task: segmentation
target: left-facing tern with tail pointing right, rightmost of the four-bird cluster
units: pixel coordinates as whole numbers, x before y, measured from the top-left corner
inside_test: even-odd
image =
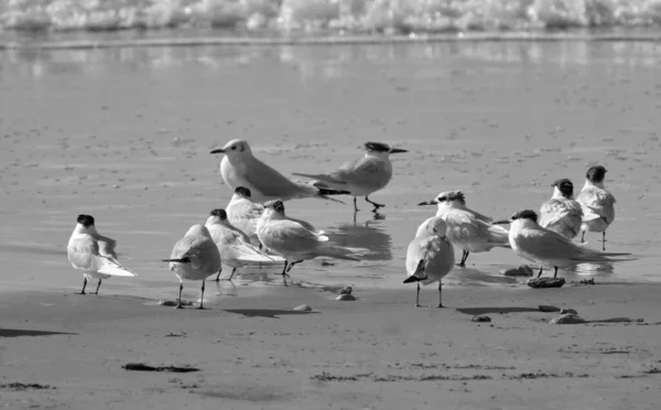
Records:
[[[259,222],[257,235],[268,249],[285,259],[282,269],[285,285],[286,272],[304,260],[330,257],[359,261],[356,257],[367,251],[367,249],[329,245],[327,236],[313,233],[303,225],[286,219],[282,215],[284,209],[282,201],[269,201],[264,206],[266,211]]]

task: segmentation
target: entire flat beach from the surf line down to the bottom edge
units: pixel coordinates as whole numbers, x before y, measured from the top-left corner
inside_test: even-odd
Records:
[[[3,400],[73,409],[216,408],[218,398],[237,409],[653,408],[658,376],[641,375],[659,365],[658,326],[556,326],[548,324],[553,314],[525,310],[549,303],[585,319],[661,321],[659,284],[650,283],[661,262],[660,56],[658,44],[631,42],[2,52],[0,380],[56,387],[39,396],[3,389]],[[332,240],[372,249],[369,258],[302,263],[290,289],[277,270],[243,274],[236,288],[209,285],[206,312],[159,306],[178,284],[160,260],[230,197],[220,158],[208,152],[234,138],[284,174],[332,169],[370,140],[411,152],[371,196],[387,204],[379,218],[362,205],[354,222],[350,198],[286,204]],[[415,204],[459,188],[469,206],[507,217],[539,208],[559,177],[579,188],[594,162],[609,170],[618,201],[607,248],[637,260],[560,273],[595,278],[594,287],[535,291],[498,273],[523,262],[510,250],[473,253],[468,269],[444,281],[448,309],[412,306],[414,290],[401,284],[404,250],[435,212]],[[118,240],[138,278],[105,281],[99,296],[72,294],[82,276],[65,247],[79,213]],[[599,245],[598,235],[587,239]],[[346,284],[357,302],[333,300],[328,287]],[[185,285],[185,299],[198,298],[197,283]],[[423,300],[435,303],[436,292],[425,289]],[[319,313],[288,314],[302,303]],[[489,313],[494,327],[457,311],[492,306],[516,309]],[[264,317],[271,310],[286,313]],[[127,362],[201,371],[131,373],[121,369]],[[519,379],[531,373],[546,376]],[[453,379],[474,376],[491,379]]]

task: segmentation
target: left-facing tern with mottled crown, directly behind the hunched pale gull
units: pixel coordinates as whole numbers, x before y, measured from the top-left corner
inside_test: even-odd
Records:
[[[463,249],[458,267],[466,267],[470,252],[485,252],[494,247],[509,248],[508,230],[492,225],[491,218],[466,207],[466,198],[460,191],[442,192],[435,199],[418,205],[438,205],[436,216],[447,225],[447,238]]]

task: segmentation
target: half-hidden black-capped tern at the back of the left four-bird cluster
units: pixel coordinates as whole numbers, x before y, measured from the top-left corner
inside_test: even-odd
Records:
[[[235,190],[235,194],[231,196],[229,204],[227,204],[227,219],[229,223],[234,225],[236,228],[248,235],[250,238],[250,242],[259,246],[261,248],[262,244],[259,241],[257,237],[257,224],[259,223],[259,218],[264,212],[264,207],[261,204],[257,204],[251,199],[252,193],[249,188],[245,186],[237,186]],[[284,209],[283,209],[284,213]],[[324,234],[323,230],[317,230],[312,224],[294,219],[288,218],[299,224],[303,225],[306,229],[312,230],[317,234]]]

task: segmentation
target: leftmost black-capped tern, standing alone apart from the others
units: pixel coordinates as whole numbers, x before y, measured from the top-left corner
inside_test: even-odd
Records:
[[[66,246],[66,255],[69,263],[83,271],[83,290],[79,294],[85,294],[87,281],[91,279],[99,280],[97,290],[94,292],[94,294],[99,294],[102,279],[137,277],[136,273],[122,267],[117,260],[116,245],[115,239],[97,233],[91,215],[78,215],[76,227]]]

